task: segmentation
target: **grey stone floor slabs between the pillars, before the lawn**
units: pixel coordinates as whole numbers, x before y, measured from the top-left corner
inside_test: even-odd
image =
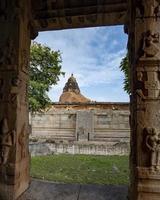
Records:
[[[127,200],[127,186],[58,184],[33,180],[19,200]]]

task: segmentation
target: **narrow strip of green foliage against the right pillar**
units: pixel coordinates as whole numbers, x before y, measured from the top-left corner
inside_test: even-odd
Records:
[[[126,56],[122,59],[120,63],[120,69],[124,72],[125,78],[124,78],[124,90],[131,94],[131,87],[130,87],[130,68],[129,68],[129,59],[128,59],[128,53]]]

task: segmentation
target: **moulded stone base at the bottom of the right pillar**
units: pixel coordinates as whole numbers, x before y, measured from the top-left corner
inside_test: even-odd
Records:
[[[160,199],[160,170],[153,168],[138,168],[138,200]]]

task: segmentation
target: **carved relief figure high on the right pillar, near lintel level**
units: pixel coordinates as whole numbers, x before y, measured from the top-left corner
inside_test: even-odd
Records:
[[[160,47],[159,33],[152,33],[150,30],[143,34],[143,56],[142,58],[159,57]]]

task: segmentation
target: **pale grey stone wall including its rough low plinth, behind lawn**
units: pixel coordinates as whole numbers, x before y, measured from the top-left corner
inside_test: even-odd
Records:
[[[52,153],[127,154],[128,109],[53,109],[31,117],[32,155]]]

